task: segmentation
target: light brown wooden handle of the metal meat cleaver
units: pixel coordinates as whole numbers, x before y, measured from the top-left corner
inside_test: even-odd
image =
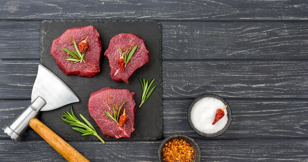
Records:
[[[38,119],[32,118],[29,122],[29,125],[68,162],[90,162],[87,158],[81,155],[77,150],[75,150],[71,145],[65,142],[59,135],[54,133]]]

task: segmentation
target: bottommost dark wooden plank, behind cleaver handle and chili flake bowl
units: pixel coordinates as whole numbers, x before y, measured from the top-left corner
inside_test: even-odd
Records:
[[[133,142],[69,142],[91,162],[157,161],[161,140]],[[307,139],[197,139],[201,161],[307,162]],[[34,149],[35,148],[35,149]],[[45,141],[0,140],[0,161],[53,161],[64,159]]]

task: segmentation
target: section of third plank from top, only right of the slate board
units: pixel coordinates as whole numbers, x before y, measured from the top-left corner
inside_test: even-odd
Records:
[[[308,62],[252,60],[163,61],[163,97],[306,98]]]

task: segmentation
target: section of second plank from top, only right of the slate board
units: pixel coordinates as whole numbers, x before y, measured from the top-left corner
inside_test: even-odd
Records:
[[[164,59],[307,59],[307,22],[161,22]]]

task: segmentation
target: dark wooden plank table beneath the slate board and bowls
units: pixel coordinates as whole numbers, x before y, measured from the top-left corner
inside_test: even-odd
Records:
[[[162,27],[163,136],[185,134],[202,161],[308,161],[307,0],[1,0],[0,125],[30,104],[41,20],[154,19]],[[204,93],[230,104],[233,122],[215,138],[189,127]],[[91,161],[157,161],[161,140],[69,142]],[[64,161],[28,130],[0,131],[0,161]]]

